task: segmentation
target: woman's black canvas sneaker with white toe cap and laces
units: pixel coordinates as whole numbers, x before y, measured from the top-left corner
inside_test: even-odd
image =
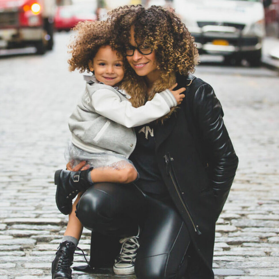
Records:
[[[117,275],[128,275],[135,272],[135,260],[138,252],[139,233],[137,236],[131,236],[120,239],[122,247],[120,254],[115,259],[113,271]]]

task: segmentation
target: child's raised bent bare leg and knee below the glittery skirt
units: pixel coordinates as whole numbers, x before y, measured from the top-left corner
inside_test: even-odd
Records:
[[[96,168],[91,171],[91,179],[96,182],[130,183],[138,177],[136,169],[128,164],[123,169],[114,167]]]

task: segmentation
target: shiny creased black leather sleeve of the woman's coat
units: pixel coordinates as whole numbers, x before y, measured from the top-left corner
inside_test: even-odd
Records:
[[[206,153],[218,218],[233,183],[238,157],[223,122],[222,106],[209,84],[202,84],[195,92],[193,113]]]

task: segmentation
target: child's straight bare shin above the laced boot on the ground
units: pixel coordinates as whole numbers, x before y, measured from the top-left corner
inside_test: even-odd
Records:
[[[80,236],[82,234],[83,226],[80,223],[78,217],[76,217],[75,211],[76,211],[76,205],[77,205],[78,201],[80,200],[81,195],[82,195],[82,193],[78,193],[78,196],[76,197],[76,200],[73,203],[72,212],[69,214],[68,225],[67,225],[66,231],[64,233],[64,239],[65,239],[65,237],[67,238],[67,236],[71,236],[71,237],[76,238],[77,241],[80,240]],[[71,238],[69,238],[69,240],[70,239]]]

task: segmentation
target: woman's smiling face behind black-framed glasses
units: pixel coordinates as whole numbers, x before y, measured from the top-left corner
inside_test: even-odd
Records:
[[[130,45],[136,47],[134,34],[134,27],[132,26]],[[159,78],[160,70],[157,68],[154,50],[148,55],[143,55],[135,49],[134,54],[132,56],[126,56],[126,58],[137,75],[146,76],[151,82]]]

